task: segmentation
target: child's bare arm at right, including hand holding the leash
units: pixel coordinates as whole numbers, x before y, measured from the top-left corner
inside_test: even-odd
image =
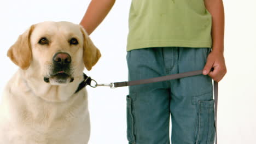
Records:
[[[209,75],[219,82],[226,74],[224,59],[224,7],[222,0],[205,0],[206,9],[212,15],[212,52],[207,57],[204,75]],[[214,68],[210,72],[211,68]],[[210,72],[210,73],[209,73]]]

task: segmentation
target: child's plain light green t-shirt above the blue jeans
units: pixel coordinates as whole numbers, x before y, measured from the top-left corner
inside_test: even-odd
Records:
[[[146,47],[211,47],[204,0],[132,0],[127,51]]]

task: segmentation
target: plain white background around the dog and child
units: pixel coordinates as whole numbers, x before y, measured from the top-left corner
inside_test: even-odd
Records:
[[[219,83],[218,142],[253,144],[256,141],[256,1],[223,0],[225,60],[228,73]],[[1,1],[0,88],[18,69],[6,53],[30,25],[42,21],[79,23],[90,1]],[[102,58],[86,74],[100,83],[126,81],[126,37],[131,0],[117,0],[109,15],[91,34]],[[91,88],[89,143],[127,143],[127,88]],[[184,137],[185,139],[185,137]]]

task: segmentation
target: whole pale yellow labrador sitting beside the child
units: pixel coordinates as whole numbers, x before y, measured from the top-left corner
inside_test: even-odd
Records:
[[[83,70],[101,57],[85,30],[71,22],[32,25],[10,47],[20,67],[4,89],[0,144],[85,144],[90,136]]]

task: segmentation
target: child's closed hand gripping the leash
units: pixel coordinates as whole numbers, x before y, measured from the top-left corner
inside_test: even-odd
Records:
[[[214,68],[213,71],[210,71]],[[210,72],[210,73],[209,73]],[[209,53],[205,68],[203,68],[203,75],[209,75],[214,81],[219,82],[226,74],[225,59],[222,52]]]

